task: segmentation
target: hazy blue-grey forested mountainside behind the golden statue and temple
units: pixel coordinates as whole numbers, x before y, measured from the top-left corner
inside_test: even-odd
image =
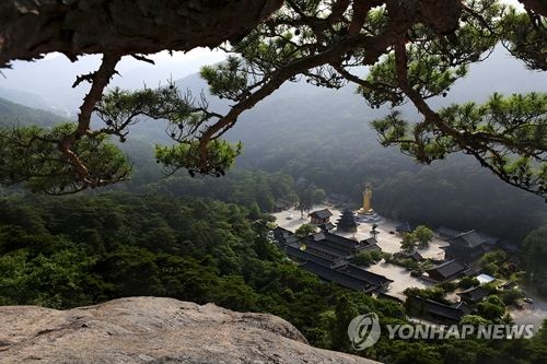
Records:
[[[468,79],[457,83],[446,99],[437,103],[480,102],[492,90],[525,92],[546,90],[546,84],[545,75],[527,71],[502,51],[496,51],[489,60],[472,68]],[[207,84],[197,74],[177,81],[177,85],[188,87],[195,96],[201,91],[207,93]],[[226,108],[223,101],[210,99],[212,109]],[[22,115],[37,115],[27,108],[15,113],[13,104],[4,104],[10,105],[5,118],[19,115],[24,121]],[[244,142],[244,154],[236,168],[290,175],[292,180],[304,177],[327,192],[349,196],[356,203],[363,185],[372,183],[374,208],[385,215],[432,226],[478,228],[515,242],[547,221],[547,208],[540,198],[507,186],[470,156],[453,155],[442,163],[421,166],[396,149],[382,148],[370,121],[387,111],[371,109],[351,87],[326,90],[304,82],[289,83],[244,114],[229,132],[230,139]],[[407,105],[403,111],[410,118],[418,117]],[[53,115],[44,115],[42,122],[55,120]],[[27,119],[32,120],[36,117]],[[135,164],[135,174],[131,181],[114,189],[159,189],[174,196],[247,201],[247,207],[258,202],[264,211],[269,210],[272,199],[284,197],[272,193],[266,185],[255,188],[260,192],[251,192],[249,187],[243,186],[251,180],[258,183],[256,177],[247,179],[248,174],[236,171],[218,180],[191,179],[185,172],[165,180],[152,155],[155,143],[170,142],[165,124],[143,120],[129,130],[128,142],[120,145]],[[147,184],[152,185],[143,187]],[[294,195],[293,183],[287,186],[288,193]]]

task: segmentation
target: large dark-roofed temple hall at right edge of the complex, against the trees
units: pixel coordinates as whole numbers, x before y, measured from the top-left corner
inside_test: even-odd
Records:
[[[474,262],[492,248],[488,239],[474,230],[458,234],[447,242],[450,245],[442,248],[444,259],[456,259],[463,265]]]

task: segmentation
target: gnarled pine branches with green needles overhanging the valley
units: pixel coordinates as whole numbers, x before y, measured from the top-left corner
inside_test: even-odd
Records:
[[[102,1],[85,2],[98,4]],[[162,8],[166,7],[163,2],[160,3],[162,5],[154,8],[154,11],[166,14],[168,9]],[[497,0],[292,0],[286,1],[275,12],[280,3],[264,1],[264,4],[260,2],[260,5],[251,8],[256,10],[264,5],[258,13],[249,12],[254,15],[241,19],[241,23],[248,26],[238,27],[240,31],[235,32],[237,36],[234,32],[221,35],[223,30],[220,30],[219,24],[223,21],[231,24],[233,21],[230,19],[229,22],[216,13],[216,5],[209,4],[209,1],[183,3],[187,7],[190,3],[205,4],[198,7],[199,11],[207,13],[210,10],[211,19],[219,14],[219,23],[203,21],[196,25],[188,21],[188,30],[200,28],[203,33],[198,32],[191,37],[196,40],[202,36],[201,44],[196,40],[184,46],[186,48],[176,42],[172,43],[172,38],[163,39],[161,36],[154,38],[158,40],[154,49],[149,47],[150,42],[143,42],[142,49],[139,49],[138,44],[125,43],[123,37],[116,39],[118,43],[109,43],[107,38],[101,47],[91,33],[86,38],[90,45],[84,47],[77,42],[80,38],[75,37],[79,34],[75,31],[70,33],[73,37],[69,40],[57,43],[58,39],[53,36],[43,39],[43,47],[33,48],[28,47],[32,39],[15,44],[14,34],[20,30],[23,19],[36,24],[45,19],[46,12],[32,7],[28,8],[30,15],[23,17],[19,8],[19,15],[14,15],[13,9],[5,12],[8,15],[0,22],[4,24],[0,26],[2,62],[54,50],[63,51],[69,57],[82,52],[104,54],[100,69],[79,77],[74,83],[92,84],[80,107],[75,128],[67,129],[65,134],[55,138],[30,134],[21,139],[16,130],[2,134],[5,149],[23,144],[34,151],[28,157],[27,169],[43,175],[44,168],[50,166],[50,163],[43,162],[44,156],[49,158],[51,154],[66,164],[58,171],[71,178],[55,177],[54,181],[45,183],[39,190],[71,192],[127,178],[127,165],[119,163],[119,172],[109,171],[101,163],[88,162],[83,155],[95,153],[96,160],[109,164],[106,155],[95,152],[107,142],[104,137],[114,136],[124,141],[127,127],[141,116],[168,121],[167,128],[175,143],[159,146],[156,157],[170,173],[188,168],[190,174],[222,175],[241,152],[240,144],[231,144],[222,137],[234,127],[242,113],[272,94],[284,82],[305,80],[314,85],[334,89],[353,83],[370,106],[393,108],[384,119],[374,121],[373,127],[384,145],[399,145],[404,153],[420,163],[431,163],[450,153],[464,152],[508,184],[543,197],[547,195],[547,94],[499,95],[492,90],[493,95],[484,105],[469,103],[435,109],[430,103],[434,97],[446,97],[451,85],[466,75],[468,66],[485,60],[499,44],[528,68],[547,70],[547,9],[544,1],[521,0],[525,12],[519,12]],[[127,2],[115,1],[108,9],[116,14],[114,10],[119,11],[124,4]],[[10,2],[4,7],[16,5]],[[135,21],[148,14],[152,9],[149,8],[139,8],[135,17],[130,15],[125,20]],[[233,11],[237,9],[233,8]],[[177,16],[173,15],[174,19]],[[184,17],[186,15],[181,16],[187,19]],[[124,28],[117,20],[114,17],[108,25],[114,30],[116,26]],[[213,23],[214,26],[211,25]],[[146,26],[140,27],[143,28],[142,33],[149,32],[144,31]],[[242,27],[244,31],[241,31]],[[210,42],[210,34],[218,36],[214,44]],[[123,55],[160,49],[186,50],[199,45],[218,45],[225,39],[230,39],[230,43],[221,47],[232,55],[225,62],[205,67],[201,77],[208,82],[212,95],[231,102],[226,113],[211,110],[205,96],[181,92],[171,83],[155,90],[110,90],[105,93]],[[66,44],[73,48],[67,50],[63,48]],[[359,75],[363,67],[369,68],[366,77]],[[420,120],[401,117],[397,107],[405,103],[414,104],[421,115]],[[90,126],[94,113],[104,121],[104,127],[97,130],[92,130]],[[88,139],[96,142],[83,142]],[[50,145],[35,146],[43,143]],[[89,149],[84,151],[82,145],[89,145]],[[94,150],[90,151],[92,148]],[[18,164],[4,166],[0,169],[0,180],[3,184],[13,183],[11,176],[18,175],[13,171],[18,168]]]

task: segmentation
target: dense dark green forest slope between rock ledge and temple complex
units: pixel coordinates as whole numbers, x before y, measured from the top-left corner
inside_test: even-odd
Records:
[[[0,303],[67,308],[135,295],[213,302],[281,316],[312,344],[346,352],[347,325],[359,313],[376,313],[382,325],[406,322],[398,303],[323,283],[289,261],[249,213],[160,195],[4,198]],[[356,354],[387,363],[544,363],[545,332],[511,341],[382,338]]]

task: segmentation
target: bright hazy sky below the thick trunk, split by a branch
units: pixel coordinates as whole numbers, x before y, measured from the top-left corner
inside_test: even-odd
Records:
[[[183,56],[155,55],[152,58],[155,64],[124,57],[117,67],[119,74],[113,78],[110,87],[135,90],[143,84],[165,84],[170,78],[195,73],[201,66],[221,61],[224,56],[197,49]],[[30,107],[59,110],[62,115],[75,115],[89,84],[82,83],[75,89],[72,84],[78,75],[93,72],[100,64],[101,57],[96,55],[80,57],[77,62],[61,55],[34,62],[15,61],[12,69],[2,70],[0,97]],[[25,97],[22,92],[32,95]]]

